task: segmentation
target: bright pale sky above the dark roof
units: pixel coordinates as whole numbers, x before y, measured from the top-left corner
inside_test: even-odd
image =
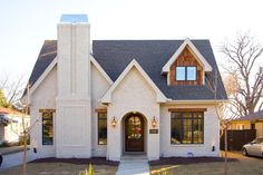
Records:
[[[62,13],[87,13],[91,39],[210,39],[220,46],[240,31],[263,43],[260,0],[6,0],[0,6],[0,78],[27,80],[45,39],[57,38]]]

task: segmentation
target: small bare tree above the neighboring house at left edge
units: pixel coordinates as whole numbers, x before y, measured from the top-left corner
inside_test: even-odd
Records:
[[[16,107],[25,91],[23,76],[12,79],[8,74],[2,74],[0,77],[0,89],[4,91],[8,106]]]

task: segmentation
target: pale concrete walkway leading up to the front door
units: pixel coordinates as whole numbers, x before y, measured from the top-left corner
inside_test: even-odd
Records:
[[[149,175],[147,157],[144,155],[123,156],[116,175]]]

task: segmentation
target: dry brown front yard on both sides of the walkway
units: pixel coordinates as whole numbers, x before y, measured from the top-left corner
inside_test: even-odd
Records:
[[[240,153],[230,153],[232,161],[228,163],[228,175],[263,175],[263,158],[244,157]],[[174,159],[176,161],[176,159]],[[49,163],[47,163],[49,162]],[[100,161],[95,161],[99,165],[94,165],[95,175],[114,175],[117,165],[104,165]],[[202,162],[202,163],[199,163]],[[88,168],[86,162],[67,163],[65,161],[43,159],[28,164],[27,175],[79,175],[80,171]],[[152,175],[222,175],[224,163],[222,159],[193,159],[177,161],[169,163],[168,159],[160,165],[150,165]],[[20,175],[21,166],[0,171],[0,175]]]

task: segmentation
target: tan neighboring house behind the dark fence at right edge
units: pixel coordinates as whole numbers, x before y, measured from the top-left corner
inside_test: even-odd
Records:
[[[263,110],[232,120],[230,129],[232,130],[255,129],[256,137],[263,136]]]

